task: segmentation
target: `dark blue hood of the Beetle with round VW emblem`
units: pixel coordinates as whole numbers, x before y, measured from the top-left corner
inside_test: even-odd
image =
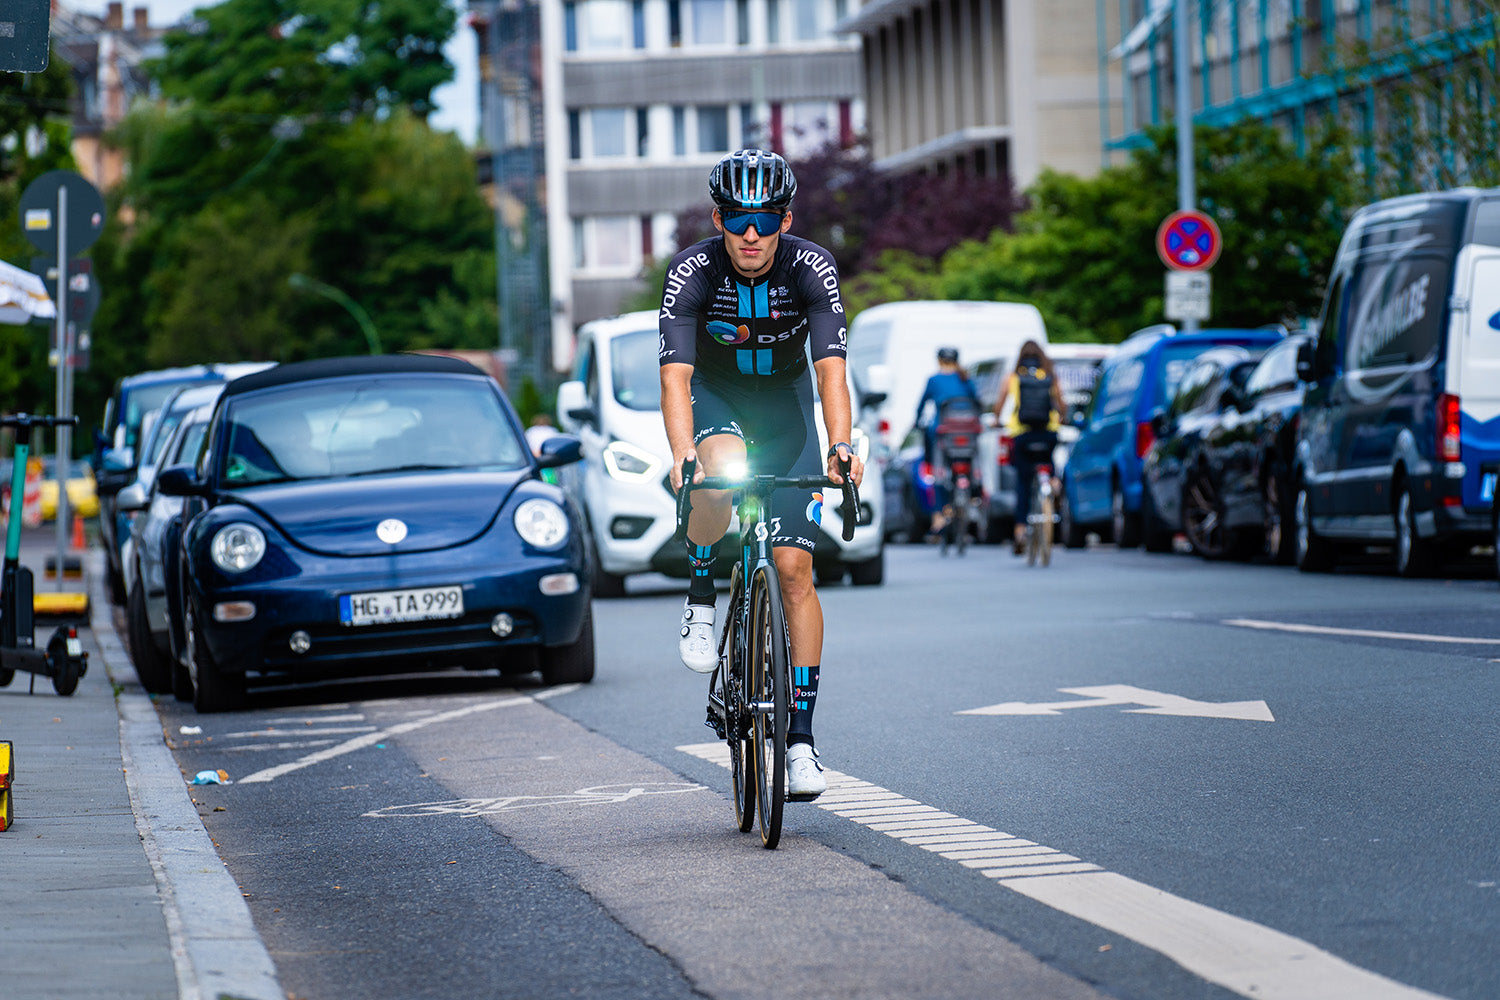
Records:
[[[292,544],[314,552],[339,556],[428,552],[477,538],[516,484],[530,475],[530,469],[446,471],[312,480],[238,490],[232,502],[258,511]],[[392,520],[402,528],[393,532],[390,525],[376,534],[380,525]]]

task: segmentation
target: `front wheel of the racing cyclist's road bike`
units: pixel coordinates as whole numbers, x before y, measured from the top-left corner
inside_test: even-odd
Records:
[[[774,565],[756,570],[750,583],[750,738],[756,786],[756,822],[760,844],[771,850],[782,841],[786,805],[786,730],[790,726],[790,646],[782,585]]]

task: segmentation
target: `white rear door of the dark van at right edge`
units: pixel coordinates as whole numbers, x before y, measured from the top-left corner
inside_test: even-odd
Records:
[[[1494,483],[1485,489],[1480,466],[1500,462],[1500,247],[1464,247],[1454,292],[1468,303],[1467,315],[1454,312],[1446,376],[1461,408],[1462,498],[1464,507],[1485,508]]]

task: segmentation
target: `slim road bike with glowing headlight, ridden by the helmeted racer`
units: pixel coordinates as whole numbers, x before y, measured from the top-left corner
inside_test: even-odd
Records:
[[[740,514],[740,553],[729,573],[729,609],[718,634],[718,666],[708,678],[705,724],[729,744],[735,822],[748,834],[759,820],[760,844],[774,849],[782,840],[786,792],[786,735],[790,726],[792,646],[782,606],[782,582],[771,559],[772,508],[778,489],[816,490],[836,486],[824,475],[711,475],[693,483],[698,463],[682,462],[682,489],[676,495],[676,534],[687,537],[694,490],[732,490]],[[838,513],[843,538],[854,538],[860,519],[860,492],[840,462],[843,493]],[[795,801],[795,798],[794,798]]]

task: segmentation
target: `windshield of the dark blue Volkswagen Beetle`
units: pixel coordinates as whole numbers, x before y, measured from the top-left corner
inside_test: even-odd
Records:
[[[220,475],[256,486],[417,469],[520,469],[530,453],[478,379],[336,379],[232,400]]]

